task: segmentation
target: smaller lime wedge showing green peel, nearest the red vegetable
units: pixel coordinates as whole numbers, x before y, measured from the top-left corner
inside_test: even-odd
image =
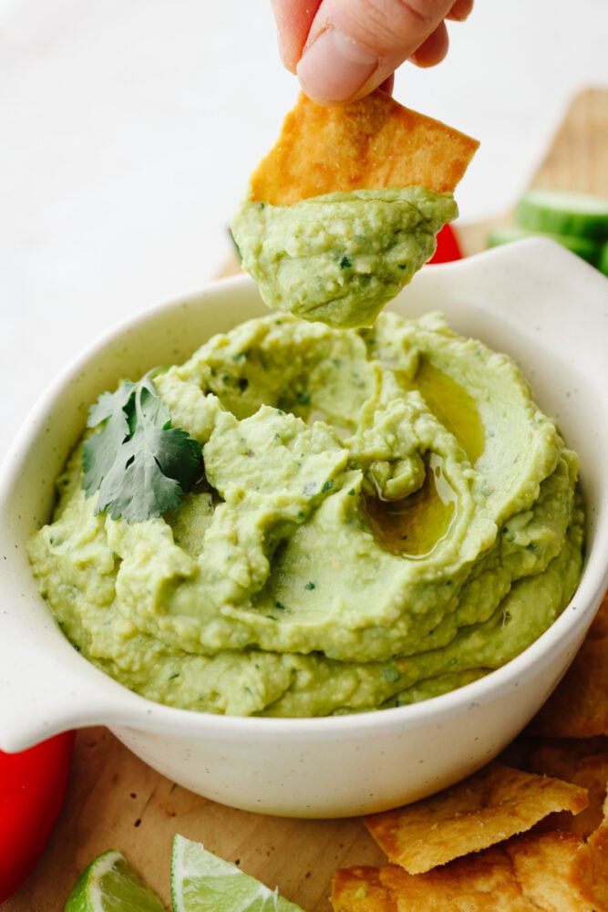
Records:
[[[127,859],[109,849],[78,877],[66,912],[165,912],[165,907]]]

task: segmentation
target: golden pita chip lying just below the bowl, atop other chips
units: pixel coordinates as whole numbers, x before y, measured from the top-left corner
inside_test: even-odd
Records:
[[[364,822],[390,861],[420,874],[523,833],[552,812],[579,814],[587,803],[577,785],[493,762],[443,792]]]

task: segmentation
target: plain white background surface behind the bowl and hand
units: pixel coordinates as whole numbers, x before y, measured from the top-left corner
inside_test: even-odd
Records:
[[[450,37],[395,95],[481,140],[472,222],[510,208],[577,91],[608,88],[608,3],[477,0]],[[0,458],[82,347],[222,268],[296,94],[269,0],[0,0]]]

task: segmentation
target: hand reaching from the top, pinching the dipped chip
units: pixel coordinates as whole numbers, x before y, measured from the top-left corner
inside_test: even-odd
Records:
[[[473,0],[271,0],[283,63],[306,95],[331,103],[363,98],[404,60],[432,67],[448,53],[445,19],[462,21]]]

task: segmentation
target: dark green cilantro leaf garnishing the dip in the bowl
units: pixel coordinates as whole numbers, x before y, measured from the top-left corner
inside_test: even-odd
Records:
[[[98,430],[84,443],[82,486],[88,496],[98,491],[96,513],[127,523],[160,516],[179,506],[201,474],[201,444],[171,427],[150,374],[103,393],[88,427]]]

